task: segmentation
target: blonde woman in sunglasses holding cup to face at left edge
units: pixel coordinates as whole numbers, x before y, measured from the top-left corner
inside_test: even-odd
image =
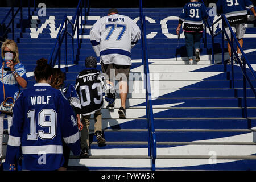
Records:
[[[5,40],[1,46],[2,67],[0,71],[0,103],[7,97],[12,97],[16,100],[19,94],[20,87],[27,87],[27,76],[24,65],[19,61],[19,49],[17,44],[13,40]],[[10,57],[9,61],[5,60],[6,57]],[[4,64],[6,61],[7,67],[10,71],[5,71]],[[3,90],[5,88],[5,90]],[[2,143],[3,143],[3,118],[5,114],[0,112],[0,158],[2,156]],[[8,133],[10,134],[12,116],[7,115],[8,121]],[[1,162],[0,162],[1,165]]]

